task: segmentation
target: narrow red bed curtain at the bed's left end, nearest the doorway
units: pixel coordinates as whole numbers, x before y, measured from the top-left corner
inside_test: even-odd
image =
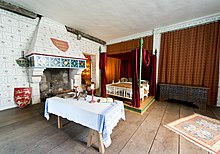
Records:
[[[99,69],[101,70],[101,96],[106,97],[106,53],[100,53]]]

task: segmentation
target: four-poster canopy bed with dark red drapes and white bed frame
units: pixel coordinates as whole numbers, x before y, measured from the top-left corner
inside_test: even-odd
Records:
[[[153,44],[152,43],[153,37],[151,36],[150,39],[151,41],[148,44]],[[140,42],[140,45],[137,46],[137,42]],[[131,106],[139,108],[140,99],[143,100],[145,97],[148,97],[149,94],[151,96],[155,96],[156,94],[156,55],[149,53],[146,49],[142,49],[143,47],[142,38],[140,40],[135,40],[135,43],[133,44],[136,45],[135,48],[132,48],[129,51],[128,49],[125,49],[126,52],[109,53],[107,46],[107,54],[102,53],[102,54],[106,54],[106,58],[119,59],[120,78],[125,77],[132,80],[130,82],[120,81],[120,83],[107,84],[105,86],[102,85],[101,87],[102,90],[103,87],[106,88],[105,89],[106,94],[130,99]],[[105,59],[105,64],[106,64],[106,59]],[[106,68],[105,71],[108,78],[109,77],[107,74],[108,69]],[[147,83],[141,82],[142,79],[148,80],[149,85]],[[116,80],[118,81],[119,78],[117,78]]]

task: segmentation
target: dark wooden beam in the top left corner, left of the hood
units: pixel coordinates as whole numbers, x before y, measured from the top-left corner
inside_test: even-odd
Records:
[[[20,15],[23,15],[23,16],[26,16],[26,17],[29,17],[29,18],[32,18],[32,19],[35,19],[38,16],[34,12],[28,11],[24,8],[19,7],[19,6],[15,6],[15,5],[8,3],[8,2],[5,2],[3,0],[0,0],[0,8],[17,13],[17,14],[20,14]]]

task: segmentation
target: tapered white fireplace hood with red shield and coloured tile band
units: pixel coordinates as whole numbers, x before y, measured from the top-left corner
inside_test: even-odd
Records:
[[[42,17],[35,30],[28,53],[34,68],[85,68],[86,58],[78,49],[65,25]]]

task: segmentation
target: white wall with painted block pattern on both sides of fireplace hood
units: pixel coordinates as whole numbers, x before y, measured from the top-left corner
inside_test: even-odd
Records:
[[[16,107],[14,102],[15,87],[29,87],[28,71],[16,63],[21,57],[21,51],[28,51],[38,19],[30,19],[9,11],[0,9],[0,110]],[[87,54],[96,55],[98,69],[99,43],[69,33],[79,49]],[[105,46],[102,46],[105,50]],[[93,78],[98,82],[98,73]]]

